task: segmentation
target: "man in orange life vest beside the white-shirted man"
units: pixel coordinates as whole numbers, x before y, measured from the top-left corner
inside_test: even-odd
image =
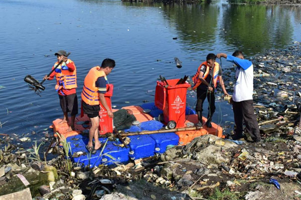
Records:
[[[212,127],[211,120],[212,115],[215,111],[215,96],[214,90],[217,86],[217,82],[220,82],[223,92],[225,95],[229,95],[226,91],[224,80],[222,78],[222,68],[215,61],[216,56],[213,53],[209,53],[204,61],[198,68],[197,73],[193,76],[193,81],[195,83],[193,89],[197,88],[197,105],[196,111],[198,114],[199,122],[196,126],[203,126],[202,121],[202,111],[203,103],[207,96],[209,102],[208,106],[208,117],[206,121],[207,127]]]

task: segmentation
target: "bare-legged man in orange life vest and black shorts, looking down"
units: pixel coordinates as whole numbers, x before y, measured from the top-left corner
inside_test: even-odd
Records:
[[[109,117],[113,117],[113,112],[107,105],[104,94],[106,92],[106,84],[109,83],[106,76],[112,71],[114,66],[115,61],[106,58],[102,61],[101,66],[91,68],[84,80],[84,87],[81,93],[82,109],[92,123],[89,131],[89,142],[86,145],[86,148],[91,152],[95,152],[101,147],[101,143],[98,140],[99,104],[101,103],[107,110]],[[95,141],[94,147],[92,143],[93,137]]]

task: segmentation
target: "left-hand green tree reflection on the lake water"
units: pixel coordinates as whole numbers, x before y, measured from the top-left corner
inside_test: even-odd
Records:
[[[217,4],[174,4],[164,7],[171,25],[181,32],[181,40],[188,42],[188,49],[204,50],[216,40],[217,18],[220,7]],[[195,46],[196,43],[204,45]]]

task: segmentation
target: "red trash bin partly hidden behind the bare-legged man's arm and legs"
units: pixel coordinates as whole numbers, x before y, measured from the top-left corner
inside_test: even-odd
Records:
[[[113,95],[113,84],[107,84],[107,91],[104,94],[107,105],[112,109],[111,96]],[[108,116],[108,112],[99,102],[99,134],[105,134],[107,132],[113,132],[113,118]]]

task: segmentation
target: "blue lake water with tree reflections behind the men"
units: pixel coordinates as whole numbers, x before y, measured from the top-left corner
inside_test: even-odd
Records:
[[[193,75],[209,52],[241,49],[249,57],[264,49],[284,48],[299,40],[300,23],[298,6],[1,0],[0,132],[36,131],[42,137],[44,128],[62,117],[55,80],[44,83],[41,97],[23,80],[31,74],[41,81],[59,49],[70,51],[77,66],[79,102],[88,70],[106,57],[115,59],[108,79],[114,84],[112,104],[121,108],[154,101],[159,75]],[[180,69],[175,56],[182,61]],[[229,66],[223,60],[223,67]],[[188,95],[190,106],[195,105],[195,96]],[[204,107],[206,116],[207,104]],[[218,102],[213,120],[221,125],[233,121],[231,106]]]

